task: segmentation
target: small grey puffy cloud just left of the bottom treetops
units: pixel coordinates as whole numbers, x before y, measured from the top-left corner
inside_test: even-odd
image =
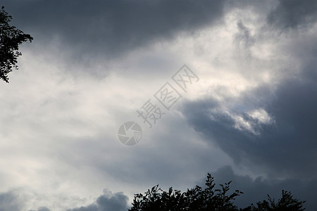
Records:
[[[114,193],[112,196],[109,194],[101,195],[97,198],[96,203],[87,205],[85,207],[79,207],[69,209],[68,211],[126,211],[128,210],[128,196],[125,196],[122,192]]]

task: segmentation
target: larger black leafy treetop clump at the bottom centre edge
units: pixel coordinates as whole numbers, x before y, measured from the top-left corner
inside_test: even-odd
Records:
[[[157,185],[144,195],[142,193],[135,194],[130,211],[238,210],[237,206],[233,204],[233,200],[242,192],[236,190],[228,195],[230,182],[225,185],[221,184],[220,189],[214,189],[213,177],[208,174],[206,188],[196,186],[187,189],[185,193],[173,190],[172,187],[168,191],[163,191]]]

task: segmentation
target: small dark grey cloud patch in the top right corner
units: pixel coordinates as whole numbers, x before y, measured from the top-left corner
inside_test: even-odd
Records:
[[[278,6],[268,15],[268,23],[282,30],[309,26],[317,19],[317,1],[280,0]]]

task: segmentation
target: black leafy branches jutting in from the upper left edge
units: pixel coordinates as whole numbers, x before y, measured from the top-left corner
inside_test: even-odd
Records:
[[[8,73],[12,68],[18,70],[18,56],[21,56],[19,45],[24,41],[32,41],[30,34],[24,34],[21,30],[10,25],[12,16],[4,11],[4,6],[0,10],[0,79],[8,83]]]

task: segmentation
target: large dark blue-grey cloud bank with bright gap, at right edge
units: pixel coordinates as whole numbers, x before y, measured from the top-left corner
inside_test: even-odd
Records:
[[[275,124],[261,124],[243,109],[233,113],[259,134],[235,127],[228,113],[211,112],[220,106],[212,98],[188,103],[183,113],[198,132],[217,143],[235,162],[243,164],[247,159],[268,174],[309,178],[317,176],[316,96],[317,83],[308,79],[286,80],[275,93],[265,87],[249,91],[237,105],[264,108]]]

